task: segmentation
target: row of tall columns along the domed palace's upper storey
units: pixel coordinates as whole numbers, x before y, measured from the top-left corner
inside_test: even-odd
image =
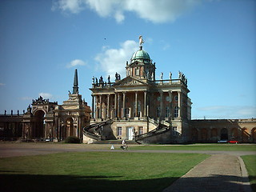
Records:
[[[115,92],[111,94],[91,94],[92,96],[92,118],[136,118],[136,117],[156,117],[156,109],[154,109],[153,94],[160,94],[160,118],[164,117],[164,97],[163,91],[148,92],[143,91],[125,91]],[[129,102],[127,102],[129,95]],[[174,114],[172,101],[173,91],[168,91],[170,97],[170,115]],[[140,99],[138,99],[140,97]],[[131,101],[130,98],[133,98]],[[178,116],[182,117],[182,93],[178,91]]]

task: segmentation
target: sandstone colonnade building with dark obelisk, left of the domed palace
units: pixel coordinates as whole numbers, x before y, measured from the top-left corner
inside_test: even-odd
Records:
[[[74,73],[73,92],[62,105],[41,96],[23,114],[0,115],[0,138],[62,141],[69,136],[82,139],[82,128],[90,122],[90,106],[78,92],[78,71]]]

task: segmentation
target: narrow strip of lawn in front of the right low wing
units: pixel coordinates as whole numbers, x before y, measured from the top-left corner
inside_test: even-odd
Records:
[[[225,150],[225,151],[255,151],[256,145],[241,144],[205,144],[205,145],[182,145],[182,146],[131,146],[130,150]]]

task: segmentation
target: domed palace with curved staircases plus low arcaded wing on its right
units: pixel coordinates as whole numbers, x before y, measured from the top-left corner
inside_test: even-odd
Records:
[[[187,78],[156,80],[156,64],[139,49],[126,62],[126,77],[115,74],[104,82],[93,77],[92,117],[83,142],[134,140],[140,143],[218,142],[236,139],[256,142],[256,121],[250,119],[191,119]]]

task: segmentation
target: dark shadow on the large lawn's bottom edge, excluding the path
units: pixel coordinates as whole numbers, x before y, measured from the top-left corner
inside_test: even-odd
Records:
[[[113,180],[117,178],[117,180]],[[28,175],[0,174],[0,191],[94,191],[94,192],[130,192],[162,191],[171,180],[177,178],[159,178],[146,180],[120,180],[122,176],[74,176],[74,175]]]

